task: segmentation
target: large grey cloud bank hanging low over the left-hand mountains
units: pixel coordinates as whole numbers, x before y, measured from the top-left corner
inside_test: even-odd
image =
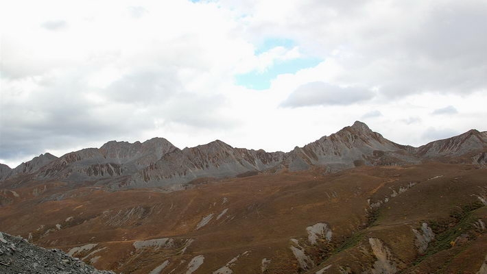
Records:
[[[106,89],[93,89],[78,74],[83,73],[40,79],[37,90],[28,96],[19,93],[28,100],[2,102],[1,159],[22,159],[49,148],[101,145],[108,140],[145,140],[141,133],[156,129],[156,120],[193,129],[237,125],[219,114],[225,102],[222,95],[180,91],[176,77],[163,71],[130,73]],[[107,101],[91,100],[93,93]]]

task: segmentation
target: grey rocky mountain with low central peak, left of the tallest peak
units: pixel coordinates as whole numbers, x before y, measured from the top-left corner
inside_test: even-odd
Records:
[[[161,160],[133,175],[132,186],[185,183],[198,177],[232,177],[248,171],[263,171],[283,160],[283,152],[267,153],[237,149],[215,140],[198,147],[174,149]]]

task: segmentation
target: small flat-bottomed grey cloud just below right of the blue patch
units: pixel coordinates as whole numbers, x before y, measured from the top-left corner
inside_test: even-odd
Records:
[[[298,108],[309,105],[350,105],[372,97],[374,93],[365,88],[341,88],[324,82],[311,82],[299,86],[281,106]]]

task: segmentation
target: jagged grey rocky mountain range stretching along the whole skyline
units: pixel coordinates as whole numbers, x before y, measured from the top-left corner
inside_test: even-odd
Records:
[[[287,153],[235,148],[221,140],[185,149],[178,149],[165,138],[134,143],[110,141],[99,149],[82,149],[60,158],[45,153],[15,169],[1,165],[0,180],[30,175],[37,180],[139,188],[185,184],[202,177],[303,171],[313,166],[335,172],[361,165],[418,164],[445,157],[486,164],[486,153],[487,132],[475,129],[415,148],[396,144],[356,121]]]

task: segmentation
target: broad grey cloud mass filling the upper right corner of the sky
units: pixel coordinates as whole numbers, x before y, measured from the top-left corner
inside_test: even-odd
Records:
[[[249,28],[333,58],[343,71],[336,82],[378,87],[388,99],[487,88],[486,1],[337,2],[306,1],[285,21],[256,18]]]

